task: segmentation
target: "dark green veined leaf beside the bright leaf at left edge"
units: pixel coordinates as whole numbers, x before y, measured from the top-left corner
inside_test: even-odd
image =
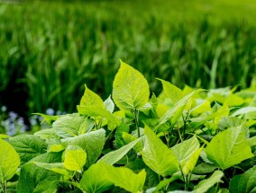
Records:
[[[14,146],[14,149],[19,154],[22,165],[47,151],[47,144],[38,136],[26,134],[14,136],[10,138],[10,144]]]

